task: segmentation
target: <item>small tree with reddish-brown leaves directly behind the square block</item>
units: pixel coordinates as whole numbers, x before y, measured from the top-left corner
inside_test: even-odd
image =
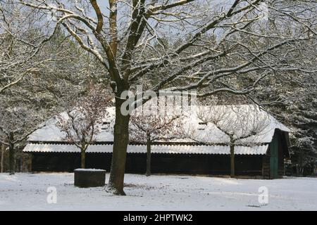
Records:
[[[57,126],[66,133],[65,139],[80,148],[81,167],[85,168],[85,153],[100,132],[102,119],[110,99],[101,85],[89,85],[86,96],[72,105],[72,109],[57,116]]]

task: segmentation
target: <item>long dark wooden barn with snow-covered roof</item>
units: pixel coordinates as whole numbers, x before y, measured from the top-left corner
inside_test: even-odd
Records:
[[[110,111],[113,108],[109,109]],[[266,112],[261,111],[263,115]],[[284,175],[284,160],[290,157],[288,150],[289,129],[268,115],[266,131],[247,142],[235,146],[235,174],[237,176],[275,179]],[[25,153],[32,154],[33,172],[73,172],[80,167],[80,150],[63,138],[56,127],[54,118],[46,127],[30,136]],[[197,129],[200,135],[209,136],[209,141],[189,140],[159,141],[151,146],[151,172],[156,174],[230,174],[230,146],[221,132],[201,123],[194,113],[189,113],[187,122]],[[255,141],[256,140],[256,141]],[[247,140],[246,140],[247,141]],[[113,148],[113,135],[101,131],[94,144],[86,151],[86,167],[110,170]],[[133,144],[128,146],[126,172],[144,174],[146,171],[147,146]]]

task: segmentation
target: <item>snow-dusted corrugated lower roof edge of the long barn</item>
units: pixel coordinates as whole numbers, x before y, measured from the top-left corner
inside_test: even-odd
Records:
[[[235,155],[265,155],[268,144],[261,146],[235,146]],[[112,153],[113,145],[90,145],[86,153]],[[27,153],[80,153],[74,145],[28,143],[23,152]],[[128,153],[147,153],[147,146],[128,146]],[[155,145],[151,153],[170,154],[218,154],[229,155],[229,146],[187,146],[187,145]]]

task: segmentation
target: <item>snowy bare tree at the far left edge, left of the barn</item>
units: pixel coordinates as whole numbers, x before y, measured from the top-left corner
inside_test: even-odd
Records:
[[[0,2],[0,142],[9,147],[11,174],[27,136],[100,77],[96,60],[61,30],[44,35],[46,16],[15,0]]]

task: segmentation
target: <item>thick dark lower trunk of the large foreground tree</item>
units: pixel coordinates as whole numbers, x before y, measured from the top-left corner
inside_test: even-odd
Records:
[[[113,154],[109,187],[113,188],[116,195],[125,195],[123,179],[125,175],[125,159],[129,142],[130,115],[122,115],[120,108],[124,99],[116,97],[116,120],[113,127]]]

